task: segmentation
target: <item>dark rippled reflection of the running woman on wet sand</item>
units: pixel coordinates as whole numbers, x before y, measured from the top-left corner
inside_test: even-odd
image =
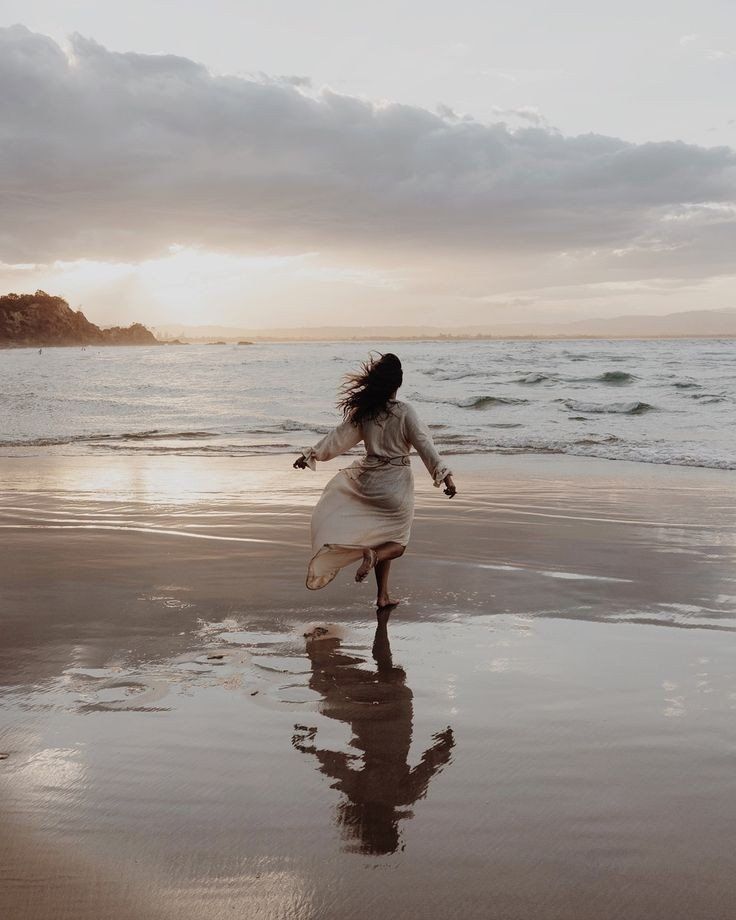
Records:
[[[342,654],[339,640],[307,645],[312,661],[309,686],[323,697],[321,712],[350,725],[351,746],[360,753],[318,748],[316,728],[297,725],[292,739],[297,750],[314,754],[320,771],[336,781],[332,788],[347,797],[339,806],[338,824],[362,853],[396,851],[399,820],[412,817],[411,806],[426,795],[455,743],[451,728],[439,732],[417,766],[409,767],[412,692],[403,669],[391,660],[386,619],[382,612],[373,644],[375,672],[361,668],[361,658]]]

